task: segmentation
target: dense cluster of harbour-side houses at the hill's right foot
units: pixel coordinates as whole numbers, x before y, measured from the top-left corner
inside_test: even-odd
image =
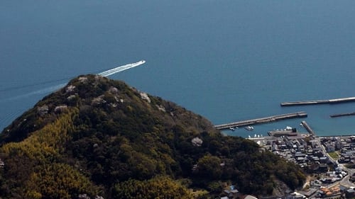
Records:
[[[310,181],[305,191],[283,195],[286,199],[305,198],[355,198],[355,188],[343,186],[339,181],[348,176],[340,164],[355,163],[355,137],[314,137],[300,134],[295,130],[278,130],[269,132],[269,137],[253,137],[263,150],[269,150],[288,161],[300,165],[309,174],[317,176]],[[327,153],[336,152],[334,160]],[[355,181],[355,174],[349,176]],[[348,184],[349,185],[349,184]]]

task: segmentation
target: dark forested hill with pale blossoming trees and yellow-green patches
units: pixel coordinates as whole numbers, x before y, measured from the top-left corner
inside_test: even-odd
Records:
[[[305,180],[200,115],[94,75],[72,79],[6,127],[0,159],[0,198],[208,198],[231,184],[261,195],[275,180],[290,188]]]

